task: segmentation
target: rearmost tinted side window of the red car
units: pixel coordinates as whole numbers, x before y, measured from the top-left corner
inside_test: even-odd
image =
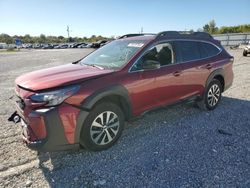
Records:
[[[205,43],[205,42],[199,42],[199,49],[200,49],[201,58],[215,56],[220,51],[214,45]]]

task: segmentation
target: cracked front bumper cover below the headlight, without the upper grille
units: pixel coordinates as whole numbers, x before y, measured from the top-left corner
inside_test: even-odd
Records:
[[[24,117],[22,110],[17,108],[15,113],[20,118],[23,141],[27,147],[38,151],[78,149],[80,128],[88,112],[77,111],[77,115],[72,116],[72,108],[75,107],[63,104],[58,107],[32,110],[27,117]],[[68,114],[69,112],[71,114]],[[75,123],[72,122],[72,118]],[[10,117],[9,121],[13,121],[12,119]]]

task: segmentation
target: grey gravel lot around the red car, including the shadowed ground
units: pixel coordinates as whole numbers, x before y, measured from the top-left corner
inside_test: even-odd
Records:
[[[40,153],[7,122],[14,79],[70,63],[87,49],[0,53],[0,187],[250,187],[250,56],[235,57],[233,86],[212,112],[183,104],[127,123],[107,151]]]

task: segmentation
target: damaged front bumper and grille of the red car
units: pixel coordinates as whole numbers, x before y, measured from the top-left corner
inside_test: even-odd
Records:
[[[78,149],[81,127],[89,112],[64,102],[46,107],[34,103],[29,98],[33,94],[16,86],[16,111],[8,119],[20,125],[24,143],[39,151]]]

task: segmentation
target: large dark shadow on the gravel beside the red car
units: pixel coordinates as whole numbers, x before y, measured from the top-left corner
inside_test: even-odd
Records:
[[[39,154],[51,187],[249,185],[250,101],[223,97],[214,111],[161,108],[127,123],[106,151]]]

